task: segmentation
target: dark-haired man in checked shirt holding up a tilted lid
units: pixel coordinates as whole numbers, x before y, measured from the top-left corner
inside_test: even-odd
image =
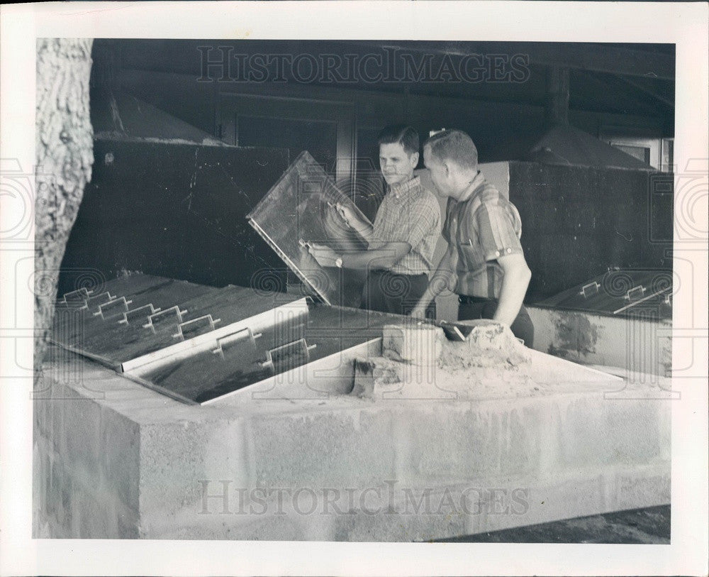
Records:
[[[435,194],[413,176],[418,164],[418,133],[411,126],[387,126],[379,133],[379,163],[387,192],[374,224],[338,207],[347,224],[369,243],[369,250],[337,255],[325,246],[311,245],[322,266],[367,271],[363,309],[408,314],[428,287],[433,251],[440,235],[441,216]],[[425,307],[435,317],[435,307]]]

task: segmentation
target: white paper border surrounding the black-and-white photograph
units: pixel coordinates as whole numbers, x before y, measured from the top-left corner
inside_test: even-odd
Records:
[[[664,2],[67,2],[2,6],[0,156],[35,161],[36,38],[514,40],[676,44],[676,178],[708,172],[709,53],[705,3]],[[315,17],[317,16],[317,17]],[[677,189],[681,190],[681,189]],[[706,194],[706,193],[705,193]],[[681,198],[676,198],[680,207]],[[705,201],[704,201],[705,202]],[[676,214],[681,216],[680,211]],[[704,216],[706,218],[706,216]],[[7,223],[11,215],[0,214]],[[700,222],[707,230],[706,221]],[[4,229],[4,227],[0,228]],[[14,260],[0,253],[0,334],[31,329],[29,290],[13,293]],[[675,243],[694,270],[693,302],[674,303],[672,509],[669,545],[363,544],[32,539],[31,383],[2,379],[0,573],[54,575],[695,575],[706,573],[707,245]],[[21,319],[11,319],[15,304]],[[691,306],[693,304],[693,306]],[[13,323],[19,323],[17,326]],[[30,347],[31,339],[24,339]],[[0,349],[0,372],[16,359]],[[694,358],[687,358],[694,351]],[[697,354],[699,352],[699,354]]]

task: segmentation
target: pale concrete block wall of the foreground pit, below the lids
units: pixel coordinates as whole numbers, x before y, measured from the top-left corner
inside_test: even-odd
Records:
[[[653,385],[484,381],[462,399],[437,383],[199,407],[53,349],[35,537],[419,541],[669,503]]]

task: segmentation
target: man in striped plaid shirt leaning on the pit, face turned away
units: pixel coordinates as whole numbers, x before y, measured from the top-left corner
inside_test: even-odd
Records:
[[[462,131],[442,131],[424,143],[431,180],[448,197],[443,236],[448,250],[413,314],[449,288],[458,320],[493,319],[532,346],[534,326],[523,303],[531,273],[515,206],[478,170],[477,150]]]

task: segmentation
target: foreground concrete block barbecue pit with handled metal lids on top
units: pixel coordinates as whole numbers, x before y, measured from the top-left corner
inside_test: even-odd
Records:
[[[165,296],[155,286],[174,296],[175,285],[130,275],[105,289],[136,308],[147,292],[157,308]],[[177,285],[198,295],[190,306],[164,302],[186,309],[183,323],[208,314],[200,300],[218,308],[215,295],[240,294]],[[274,299],[296,307],[294,333],[273,330]],[[260,363],[244,386],[229,370],[218,382],[208,370],[180,380],[175,367],[189,356],[160,360],[174,370],[151,383],[155,370],[97,363],[97,340],[94,359],[52,348],[35,407],[38,536],[411,541],[669,502],[670,407],[654,400],[657,385],[530,350],[492,322],[456,342],[396,315],[260,300],[265,316],[228,317],[249,309],[238,298],[212,314],[225,325],[262,319],[243,331],[263,335],[251,356],[231,355],[229,343],[223,357],[213,352],[223,336],[207,347],[210,363],[234,374]],[[77,308],[58,309],[57,320]],[[125,312],[82,314],[87,335],[93,324],[125,331]],[[184,348],[219,330],[174,340]],[[312,357],[301,349],[265,367],[271,345],[294,336],[318,345]],[[210,402],[177,400],[185,390],[169,389],[187,381]]]

